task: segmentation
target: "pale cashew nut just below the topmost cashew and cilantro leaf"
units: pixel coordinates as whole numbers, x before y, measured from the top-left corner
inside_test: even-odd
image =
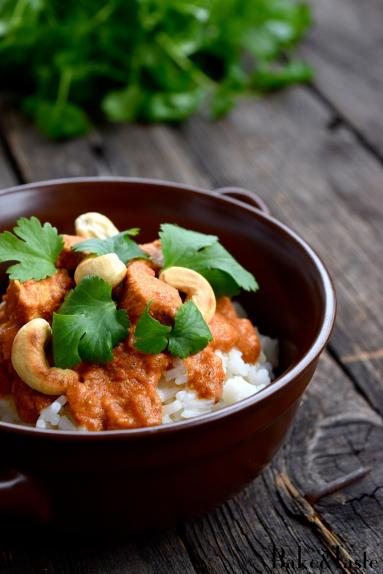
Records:
[[[74,280],[78,285],[84,277],[91,275],[101,277],[112,287],[116,287],[126,275],[126,265],[115,253],[89,257],[77,266]]]

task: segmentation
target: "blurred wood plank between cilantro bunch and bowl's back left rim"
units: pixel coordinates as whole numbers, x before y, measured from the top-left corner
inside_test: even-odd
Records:
[[[11,110],[0,120],[8,145],[26,181],[91,175],[171,179],[209,186],[182,142],[164,126],[106,126],[103,133],[52,143]]]

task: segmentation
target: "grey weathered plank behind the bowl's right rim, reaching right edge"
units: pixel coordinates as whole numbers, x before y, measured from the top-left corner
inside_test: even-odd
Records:
[[[182,135],[215,186],[257,191],[323,256],[339,302],[333,348],[382,413],[383,170],[348,130],[328,130],[329,119],[298,88],[245,101],[214,129],[190,121]]]

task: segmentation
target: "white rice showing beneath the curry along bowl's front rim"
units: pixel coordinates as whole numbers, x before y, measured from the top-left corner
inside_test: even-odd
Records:
[[[160,380],[157,389],[163,404],[162,423],[186,420],[222,409],[254,395],[269,385],[273,378],[273,369],[278,364],[278,342],[262,335],[260,335],[260,340],[262,350],[255,364],[246,363],[241,351],[236,348],[228,353],[216,351],[216,355],[222,360],[225,372],[222,398],[218,403],[210,399],[198,398],[196,392],[188,387],[184,362],[181,359],[175,359],[171,368]],[[12,397],[0,399],[0,420],[24,424],[17,415]],[[86,431],[71,417],[65,395],[58,397],[40,411],[36,427]]]

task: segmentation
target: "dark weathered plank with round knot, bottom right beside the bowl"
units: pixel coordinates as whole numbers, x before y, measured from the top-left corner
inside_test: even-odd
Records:
[[[383,479],[382,433],[381,417],[332,360],[323,359],[290,438],[273,464],[234,500],[183,526],[197,569],[206,574],[297,572],[300,547],[308,567],[305,571],[319,571],[309,566],[310,559],[323,559],[324,572],[355,571],[347,570],[347,563],[338,570],[328,538],[319,536],[324,528],[338,538],[344,556],[356,561],[366,552],[382,564],[383,492],[378,487]],[[372,465],[370,475],[322,499],[316,505],[316,525],[305,520],[282,488],[285,476],[303,495],[361,464]],[[285,562],[294,560],[294,568],[291,564],[282,567],[283,552]]]

